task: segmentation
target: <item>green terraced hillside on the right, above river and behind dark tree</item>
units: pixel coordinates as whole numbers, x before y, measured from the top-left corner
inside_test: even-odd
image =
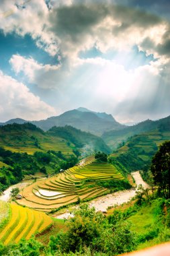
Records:
[[[170,140],[169,119],[164,125],[159,123],[159,129],[146,131],[134,135],[111,156],[114,161],[120,162],[129,172],[133,170],[147,170],[159,146]]]

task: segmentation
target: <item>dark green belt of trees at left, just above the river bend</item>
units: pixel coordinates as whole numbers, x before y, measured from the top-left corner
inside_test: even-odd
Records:
[[[48,173],[48,169],[54,173],[60,168],[67,169],[75,166],[78,158],[71,154],[69,157],[62,152],[49,150],[48,152],[35,152],[34,155],[27,153],[11,152],[0,148],[0,158],[6,166],[0,168],[0,192],[22,181],[24,175],[35,174],[36,172]]]

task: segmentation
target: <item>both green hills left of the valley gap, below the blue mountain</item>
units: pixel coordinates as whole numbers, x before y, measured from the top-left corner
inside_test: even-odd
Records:
[[[89,152],[89,150],[90,152],[110,152],[110,148],[103,139],[91,133],[85,133],[70,126],[58,127],[58,129],[54,127],[45,132],[32,123],[24,123],[23,125],[13,123],[1,126],[0,147],[12,152],[26,152],[28,154],[48,150],[61,151],[65,155],[75,154],[77,150],[79,150],[79,154]]]

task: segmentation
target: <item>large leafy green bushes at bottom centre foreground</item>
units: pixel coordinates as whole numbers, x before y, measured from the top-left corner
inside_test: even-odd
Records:
[[[58,251],[58,255],[59,252],[65,255],[69,251],[85,252],[89,248],[92,253],[118,255],[136,248],[135,234],[130,231],[130,223],[122,222],[116,215],[110,222],[86,204],[81,205],[73,214],[75,217],[67,221],[69,230],[50,239],[48,253]]]

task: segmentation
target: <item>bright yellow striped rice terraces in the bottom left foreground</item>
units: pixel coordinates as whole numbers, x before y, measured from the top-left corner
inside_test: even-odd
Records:
[[[4,245],[18,243],[22,238],[29,239],[33,234],[42,232],[52,225],[51,218],[42,212],[1,201],[0,206],[2,203],[3,208],[10,208],[10,216],[0,232],[0,242]],[[0,218],[0,226],[1,222]]]

